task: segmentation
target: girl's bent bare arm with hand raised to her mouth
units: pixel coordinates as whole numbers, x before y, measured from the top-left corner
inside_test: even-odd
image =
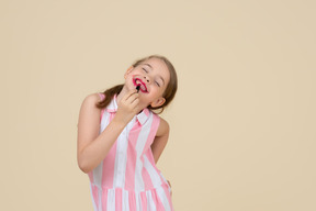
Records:
[[[98,93],[88,96],[79,113],[77,160],[83,173],[89,173],[105,158],[121,132],[138,111],[138,93],[132,90],[117,102],[114,119],[99,135],[101,112],[95,107],[99,100]]]

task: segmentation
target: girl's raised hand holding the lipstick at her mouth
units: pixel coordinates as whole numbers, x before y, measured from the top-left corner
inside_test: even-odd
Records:
[[[139,112],[139,95],[137,90],[129,90],[121,101],[117,102],[117,112],[115,120],[127,124]]]

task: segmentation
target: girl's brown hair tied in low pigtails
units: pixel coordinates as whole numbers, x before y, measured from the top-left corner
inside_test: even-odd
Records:
[[[176,69],[174,69],[173,65],[165,56],[151,55],[151,56],[148,56],[148,57],[145,57],[145,58],[136,60],[132,66],[133,67],[137,67],[143,62],[145,62],[145,60],[147,60],[149,58],[158,58],[158,59],[162,60],[166,64],[169,73],[170,73],[169,84],[167,85],[166,90],[165,90],[165,92],[162,95],[162,97],[166,99],[166,102],[162,106],[159,106],[159,107],[156,107],[156,108],[153,108],[150,104],[148,106],[148,109],[150,109],[151,111],[160,109],[160,112],[158,112],[158,113],[161,113],[163,111],[163,109],[172,101],[172,99],[176,96],[176,92],[177,92],[177,89],[178,89],[178,77],[177,77],[177,73],[176,73]],[[123,86],[124,85],[117,85],[117,86],[114,86],[114,87],[112,87],[110,89],[106,89],[103,92],[105,98],[102,101],[100,101],[100,102],[98,102],[95,104],[97,108],[103,109],[103,108],[108,107],[109,103],[111,102],[112,98],[115,95],[119,95],[122,91]]]

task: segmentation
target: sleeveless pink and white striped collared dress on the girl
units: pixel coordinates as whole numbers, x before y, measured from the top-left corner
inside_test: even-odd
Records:
[[[102,110],[100,133],[116,110],[115,96]],[[159,121],[157,114],[143,110],[125,126],[101,164],[88,174],[95,211],[173,210],[170,187],[156,167],[150,148]]]

